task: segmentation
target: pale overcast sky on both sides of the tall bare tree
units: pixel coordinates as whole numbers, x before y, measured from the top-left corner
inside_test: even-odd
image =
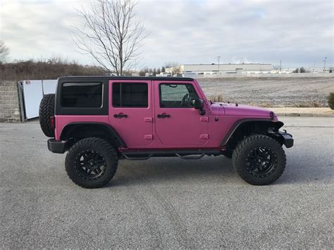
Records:
[[[92,64],[75,51],[71,27],[88,0],[0,0],[0,39],[11,60],[62,56]],[[140,67],[166,62],[272,63],[333,66],[333,1],[148,1],[137,17],[149,37]]]

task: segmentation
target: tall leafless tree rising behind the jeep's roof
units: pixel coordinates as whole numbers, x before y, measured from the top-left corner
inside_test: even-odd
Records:
[[[89,54],[106,73],[123,75],[140,55],[144,26],[135,20],[132,0],[94,0],[79,11],[82,27],[75,27],[73,41],[82,54]]]

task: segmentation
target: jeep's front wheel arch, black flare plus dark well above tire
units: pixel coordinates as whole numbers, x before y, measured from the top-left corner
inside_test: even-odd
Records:
[[[221,141],[220,146],[228,146],[228,144],[233,144],[233,140],[238,141],[240,137],[251,135],[254,132],[261,135],[268,135],[270,131],[278,132],[280,127],[283,127],[283,125],[284,123],[281,121],[271,119],[237,120],[237,122],[233,124],[233,126]]]

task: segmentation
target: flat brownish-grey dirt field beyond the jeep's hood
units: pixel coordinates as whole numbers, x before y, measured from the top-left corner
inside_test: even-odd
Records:
[[[207,97],[259,106],[325,107],[334,77],[198,79]]]

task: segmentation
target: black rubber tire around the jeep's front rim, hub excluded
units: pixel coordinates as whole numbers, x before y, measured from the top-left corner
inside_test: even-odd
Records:
[[[270,154],[271,169],[270,172],[261,175],[254,174],[247,166],[249,164],[249,155],[257,149],[265,149]],[[252,155],[254,158],[254,156]],[[266,135],[252,135],[243,139],[233,151],[232,165],[242,180],[252,185],[269,185],[283,174],[286,164],[286,156],[282,146],[271,137]]]

